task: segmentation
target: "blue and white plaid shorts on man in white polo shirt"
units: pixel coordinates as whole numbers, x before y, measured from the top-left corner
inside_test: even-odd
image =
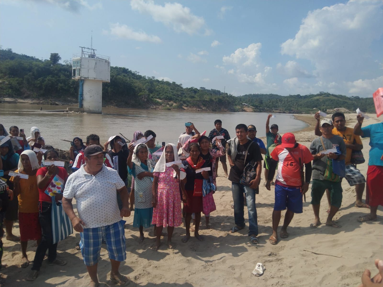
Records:
[[[101,242],[106,241],[106,249],[108,249],[109,258],[116,261],[124,261],[126,259],[125,251],[125,230],[126,221],[111,225],[84,228],[80,232],[80,248],[86,266],[93,266],[100,261]]]

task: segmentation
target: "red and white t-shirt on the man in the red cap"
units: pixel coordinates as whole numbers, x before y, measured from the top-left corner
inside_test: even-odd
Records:
[[[270,153],[270,157],[278,161],[276,179],[283,185],[288,186],[302,186],[303,184],[299,159],[301,159],[302,166],[304,163],[309,163],[314,159],[309,149],[300,143],[298,143],[298,147],[291,149],[290,152],[278,145]]]

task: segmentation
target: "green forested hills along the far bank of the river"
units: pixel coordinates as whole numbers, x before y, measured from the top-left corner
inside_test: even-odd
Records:
[[[0,49],[0,97],[72,101],[78,99],[78,81],[72,80],[72,66],[52,53],[39,60],[11,49]],[[249,104],[249,108],[242,103]],[[320,92],[317,95],[252,94],[235,97],[204,87],[184,88],[182,84],[139,75],[124,67],[111,67],[110,83],[103,83],[103,105],[127,108],[201,109],[206,111],[313,112],[313,109],[347,108],[373,112],[372,98],[347,97]]]

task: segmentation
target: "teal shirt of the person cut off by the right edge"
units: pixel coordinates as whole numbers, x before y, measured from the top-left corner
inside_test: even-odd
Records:
[[[379,165],[383,166],[383,160],[381,156],[383,155],[383,122],[378,124],[372,124],[367,127],[362,127],[363,135],[362,137],[370,138],[370,152],[368,159],[368,165]]]

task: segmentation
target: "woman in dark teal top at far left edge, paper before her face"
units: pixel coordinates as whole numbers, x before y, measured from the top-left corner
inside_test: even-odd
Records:
[[[13,190],[13,183],[9,180],[11,177],[9,176],[10,171],[17,170],[17,165],[19,162],[20,156],[13,151],[12,143],[9,140],[6,140],[6,137],[0,136],[0,141],[2,144],[0,145],[0,153],[1,160],[3,163],[4,176],[3,178],[7,179],[7,184],[10,189]],[[18,219],[18,201],[17,197],[14,196],[12,200],[8,201],[8,208],[4,215],[4,226],[5,231],[7,232],[7,240],[11,241],[19,241],[20,238],[12,233],[13,222]]]

